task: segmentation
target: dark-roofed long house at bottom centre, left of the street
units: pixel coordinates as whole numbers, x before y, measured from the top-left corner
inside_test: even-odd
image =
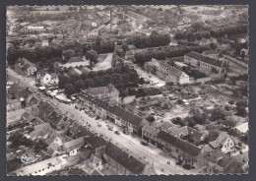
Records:
[[[112,143],[106,146],[103,157],[108,168],[118,175],[152,175],[155,173],[153,166]]]

